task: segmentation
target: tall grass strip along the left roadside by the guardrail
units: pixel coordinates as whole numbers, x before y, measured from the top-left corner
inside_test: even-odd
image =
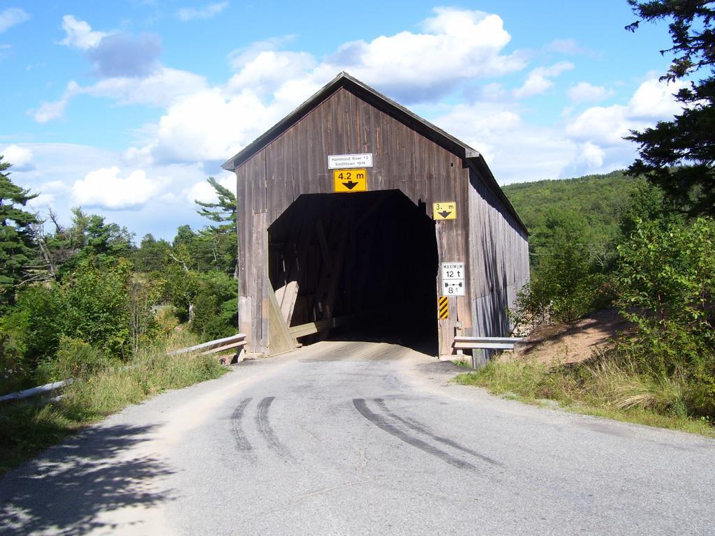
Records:
[[[0,406],[0,475],[64,437],[167,389],[179,389],[220,377],[227,367],[216,356],[169,356],[172,349],[195,344],[177,332],[162,344],[141,349],[129,363],[115,364],[64,389],[64,397],[46,405],[36,401]]]

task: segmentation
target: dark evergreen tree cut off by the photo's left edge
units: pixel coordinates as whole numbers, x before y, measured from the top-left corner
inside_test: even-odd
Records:
[[[0,156],[0,307],[6,307],[14,303],[15,289],[35,260],[32,226],[37,218],[21,207],[38,194],[13,184],[6,172],[11,164],[2,159]]]

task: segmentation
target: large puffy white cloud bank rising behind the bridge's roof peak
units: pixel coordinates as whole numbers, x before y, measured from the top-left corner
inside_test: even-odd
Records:
[[[438,8],[422,33],[403,31],[340,46],[322,62],[306,52],[278,51],[290,36],[230,54],[237,69],[225,86],[172,101],[154,139],[127,157],[144,162],[224,160],[307,99],[338,72],[348,70],[400,102],[435,101],[463,81],[522,69],[521,54],[503,54],[511,36],[496,15]],[[570,64],[569,64],[570,65]],[[544,69],[556,76],[565,69]],[[553,73],[553,75],[552,75]]]

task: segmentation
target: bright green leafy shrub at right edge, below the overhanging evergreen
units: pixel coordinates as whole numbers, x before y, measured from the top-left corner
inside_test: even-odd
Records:
[[[638,221],[618,255],[620,304],[636,323],[619,350],[640,372],[683,374],[689,410],[715,415],[715,220]]]

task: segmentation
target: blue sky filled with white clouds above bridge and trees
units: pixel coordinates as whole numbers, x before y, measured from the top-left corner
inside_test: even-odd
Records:
[[[485,155],[500,184],[626,167],[679,111],[666,24],[625,0],[3,1],[0,154],[69,222],[201,227],[220,163],[345,70]]]

